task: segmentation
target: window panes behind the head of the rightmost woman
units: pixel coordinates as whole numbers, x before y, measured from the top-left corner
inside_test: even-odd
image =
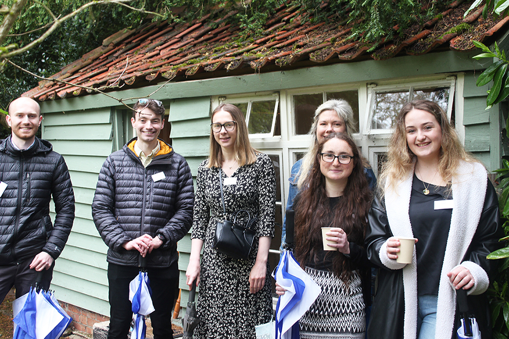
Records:
[[[449,87],[439,88],[410,88],[405,91],[377,92],[375,94],[375,103],[373,107],[373,118],[371,119],[371,129],[391,129],[396,123],[401,108],[413,100],[434,101],[447,112],[449,101]]]

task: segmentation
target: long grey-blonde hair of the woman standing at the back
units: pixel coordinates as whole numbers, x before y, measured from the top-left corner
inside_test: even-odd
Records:
[[[338,117],[343,120],[345,123],[345,134],[347,134],[351,139],[353,139],[352,133],[355,132],[354,127],[354,111],[351,109],[350,104],[346,100],[343,99],[331,99],[327,100],[322,105],[318,106],[315,111],[315,117],[313,119],[313,124],[311,125],[311,129],[307,133],[310,138],[309,148],[307,149],[306,154],[302,158],[302,166],[299,172],[299,181],[297,182],[297,187],[299,189],[302,188],[302,185],[306,181],[307,175],[309,174],[309,170],[311,166],[315,162],[315,152],[314,149],[318,145],[317,138],[317,129],[318,129],[318,118],[323,111],[335,111],[338,114]]]

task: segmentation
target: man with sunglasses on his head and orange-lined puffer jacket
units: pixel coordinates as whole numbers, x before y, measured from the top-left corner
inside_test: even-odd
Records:
[[[108,156],[92,203],[95,226],[108,248],[108,338],[125,339],[132,318],[129,283],[146,267],[155,311],[154,339],[173,338],[171,311],[178,286],[177,242],[192,224],[194,190],[184,157],[158,139],[164,107],[140,99],[131,124],[136,137]]]

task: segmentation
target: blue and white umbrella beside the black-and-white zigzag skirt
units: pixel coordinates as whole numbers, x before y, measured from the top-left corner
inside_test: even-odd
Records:
[[[299,339],[299,319],[309,310],[322,289],[300,267],[293,256],[293,211],[286,211],[286,246],[273,272],[278,285],[286,290],[276,306],[276,339]]]

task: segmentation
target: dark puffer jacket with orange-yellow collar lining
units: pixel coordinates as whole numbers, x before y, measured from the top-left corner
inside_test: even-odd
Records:
[[[163,141],[160,141],[161,150],[144,168],[133,151],[135,140],[110,154],[104,162],[97,180],[92,216],[109,247],[109,263],[139,266],[139,252],[127,251],[122,244],[143,234],[152,237],[162,234],[166,242],[147,255],[147,266],[169,267],[178,259],[177,242],[192,225],[191,170],[184,157],[174,153]]]

